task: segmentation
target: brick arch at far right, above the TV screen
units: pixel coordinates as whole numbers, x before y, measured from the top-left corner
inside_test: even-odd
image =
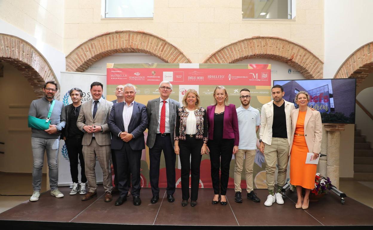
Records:
[[[334,78],[357,78],[360,84],[373,72],[373,42],[355,50],[339,67]]]

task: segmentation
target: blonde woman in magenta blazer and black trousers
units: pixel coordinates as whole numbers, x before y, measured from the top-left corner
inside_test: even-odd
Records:
[[[224,86],[216,86],[214,90],[214,105],[207,107],[207,124],[209,127],[211,180],[214,188],[212,204],[226,205],[225,197],[228,179],[229,165],[232,154],[238,151],[238,119],[236,107],[228,103],[228,93]],[[219,168],[221,175],[219,178]]]

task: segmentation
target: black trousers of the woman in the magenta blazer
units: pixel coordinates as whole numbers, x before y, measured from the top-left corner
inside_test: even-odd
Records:
[[[232,160],[234,139],[209,140],[207,145],[210,149],[211,180],[214,194],[225,196],[228,187],[229,165]],[[219,168],[221,170],[220,178]]]

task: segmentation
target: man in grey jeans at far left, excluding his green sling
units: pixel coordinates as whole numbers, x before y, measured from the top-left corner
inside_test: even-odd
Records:
[[[48,81],[43,88],[44,97],[31,102],[28,115],[47,119],[48,111],[54,99],[54,94],[58,90],[57,83]],[[47,161],[49,168],[49,184],[51,195],[57,198],[63,197],[63,194],[58,190],[58,149],[60,145],[61,130],[66,124],[65,106],[60,101],[55,101],[50,117],[51,123],[49,129],[38,130],[32,128],[31,146],[32,155],[34,158],[34,168],[32,170],[32,186],[34,193],[30,201],[37,201],[40,196],[41,176],[44,163],[44,152],[47,152]]]

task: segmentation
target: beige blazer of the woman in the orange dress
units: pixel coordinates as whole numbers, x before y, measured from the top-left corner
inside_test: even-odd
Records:
[[[299,108],[291,111],[292,135],[290,140],[289,155],[294,141],[295,126],[299,115]],[[321,115],[317,110],[312,111],[307,107],[304,118],[304,137],[307,143],[308,152],[319,153],[321,151],[321,139],[323,137]]]

